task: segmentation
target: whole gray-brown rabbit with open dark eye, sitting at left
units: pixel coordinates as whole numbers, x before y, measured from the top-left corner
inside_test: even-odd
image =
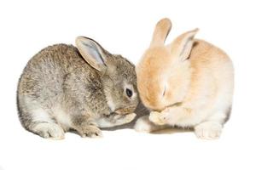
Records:
[[[138,104],[135,66],[88,37],[41,50],[18,85],[20,122],[44,138],[102,135],[100,127],[131,122]]]

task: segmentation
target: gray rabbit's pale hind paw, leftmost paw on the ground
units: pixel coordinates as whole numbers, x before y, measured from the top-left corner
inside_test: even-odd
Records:
[[[64,139],[65,133],[63,129],[55,123],[39,123],[35,126],[35,133],[47,139]]]

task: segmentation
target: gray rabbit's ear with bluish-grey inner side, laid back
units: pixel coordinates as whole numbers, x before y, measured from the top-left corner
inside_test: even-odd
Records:
[[[77,37],[76,45],[86,62],[97,71],[105,71],[106,56],[101,45],[88,37]]]

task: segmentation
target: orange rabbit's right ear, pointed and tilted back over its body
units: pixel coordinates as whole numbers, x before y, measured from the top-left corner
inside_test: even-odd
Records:
[[[177,37],[171,44],[172,54],[181,61],[188,59],[194,43],[194,37],[198,28],[192,31],[187,31]]]

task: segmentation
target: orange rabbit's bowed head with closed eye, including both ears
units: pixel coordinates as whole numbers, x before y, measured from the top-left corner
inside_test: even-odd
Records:
[[[137,65],[140,98],[154,111],[182,102],[189,88],[189,54],[198,30],[185,32],[165,45],[171,27],[169,19],[157,23],[152,42]]]

